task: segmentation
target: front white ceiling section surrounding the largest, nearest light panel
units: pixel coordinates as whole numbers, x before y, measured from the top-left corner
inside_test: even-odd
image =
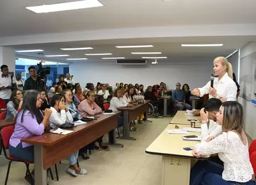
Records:
[[[55,13],[34,13],[25,8],[70,1],[1,0],[0,37],[127,27],[256,23],[253,0],[99,0],[103,7]]]

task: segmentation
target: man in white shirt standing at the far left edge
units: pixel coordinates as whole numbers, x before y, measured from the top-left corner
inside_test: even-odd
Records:
[[[1,66],[2,75],[0,77],[0,98],[7,104],[12,94],[12,87],[17,87],[15,78],[8,75],[8,66]]]

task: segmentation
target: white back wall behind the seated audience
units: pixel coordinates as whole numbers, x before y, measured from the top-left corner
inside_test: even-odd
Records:
[[[70,64],[70,73],[74,75],[75,82],[86,85],[87,82],[108,83],[115,86],[116,82],[124,84],[159,84],[166,82],[169,89],[175,89],[175,84],[187,83],[190,89],[205,85],[212,74],[212,61],[172,61],[161,62],[150,66],[120,66],[114,61],[101,61],[98,63]]]

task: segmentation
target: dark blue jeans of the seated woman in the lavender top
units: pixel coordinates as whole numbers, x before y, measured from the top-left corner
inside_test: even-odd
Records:
[[[13,158],[22,159],[34,163],[35,159],[33,145],[23,148],[21,142],[16,147],[13,147],[9,144],[9,152],[13,156]]]

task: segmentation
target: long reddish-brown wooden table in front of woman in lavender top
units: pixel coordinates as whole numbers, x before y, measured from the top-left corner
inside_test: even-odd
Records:
[[[101,114],[100,117],[97,117],[97,120],[72,128],[71,130],[74,132],[68,135],[44,133],[40,136],[22,139],[21,142],[34,145],[35,185],[47,184],[47,168],[115,129],[118,121],[117,116],[120,112],[115,113],[114,115]]]

